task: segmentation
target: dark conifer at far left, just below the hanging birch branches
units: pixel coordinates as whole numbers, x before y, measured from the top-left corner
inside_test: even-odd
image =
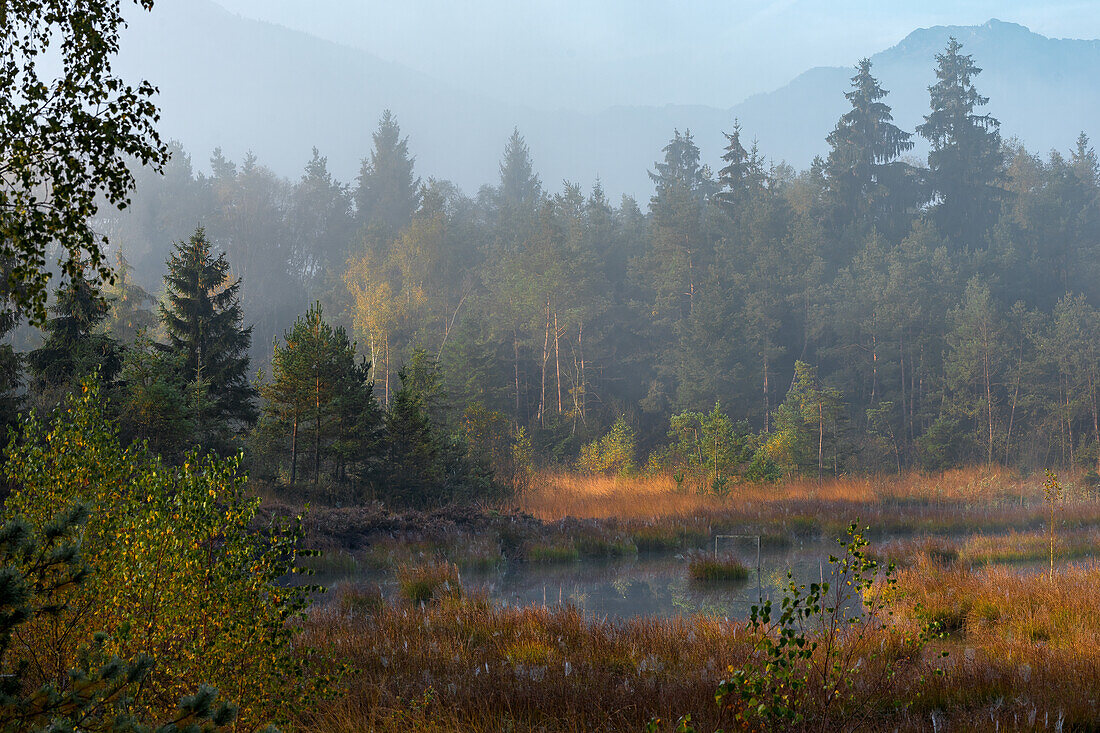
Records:
[[[72,277],[57,289],[51,313],[42,346],[26,357],[31,389],[52,401],[54,391],[74,387],[96,370],[103,384],[111,384],[122,366],[122,348],[98,332],[108,305],[92,284],[82,275]]]

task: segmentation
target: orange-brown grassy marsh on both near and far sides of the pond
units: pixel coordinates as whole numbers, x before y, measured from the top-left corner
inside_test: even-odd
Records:
[[[343,583],[311,610],[308,648],[353,671],[342,694],[300,723],[337,733],[580,733],[641,731],[691,713],[698,731],[736,730],[744,701],[719,711],[715,690],[732,669],[761,664],[762,637],[747,623],[497,606],[461,588],[461,558],[568,566],[706,548],[730,529],[783,544],[838,536],[859,516],[894,536],[873,548],[901,566],[897,583],[876,590],[892,615],[862,636],[832,637],[850,661],[845,697],[811,683],[795,729],[1088,730],[1100,689],[1100,566],[1065,560],[1096,549],[1100,503],[1082,486],[1067,494],[1053,581],[1041,479],[977,470],[752,486],[725,499],[679,494],[663,479],[548,474],[506,512],[321,510],[314,537],[336,549],[333,562],[395,568],[402,592],[386,599]],[[715,573],[701,565],[697,575]],[[806,621],[807,642],[824,643],[816,623]],[[932,623],[942,636],[916,643]],[[821,664],[823,648],[796,664]]]

